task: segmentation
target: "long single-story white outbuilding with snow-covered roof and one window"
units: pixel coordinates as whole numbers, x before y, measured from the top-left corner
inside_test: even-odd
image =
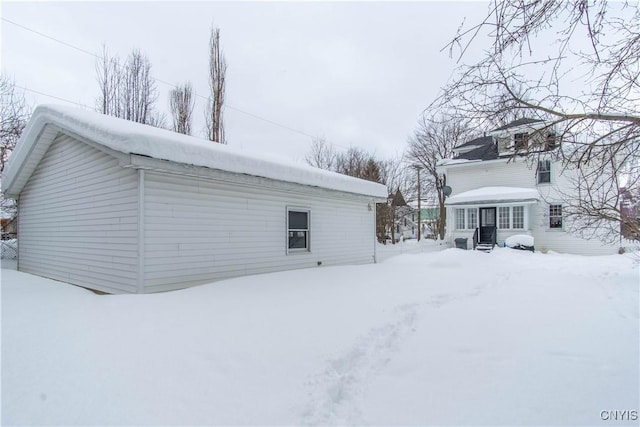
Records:
[[[18,269],[108,293],[371,263],[386,187],[95,112],[40,106],[2,178]]]

